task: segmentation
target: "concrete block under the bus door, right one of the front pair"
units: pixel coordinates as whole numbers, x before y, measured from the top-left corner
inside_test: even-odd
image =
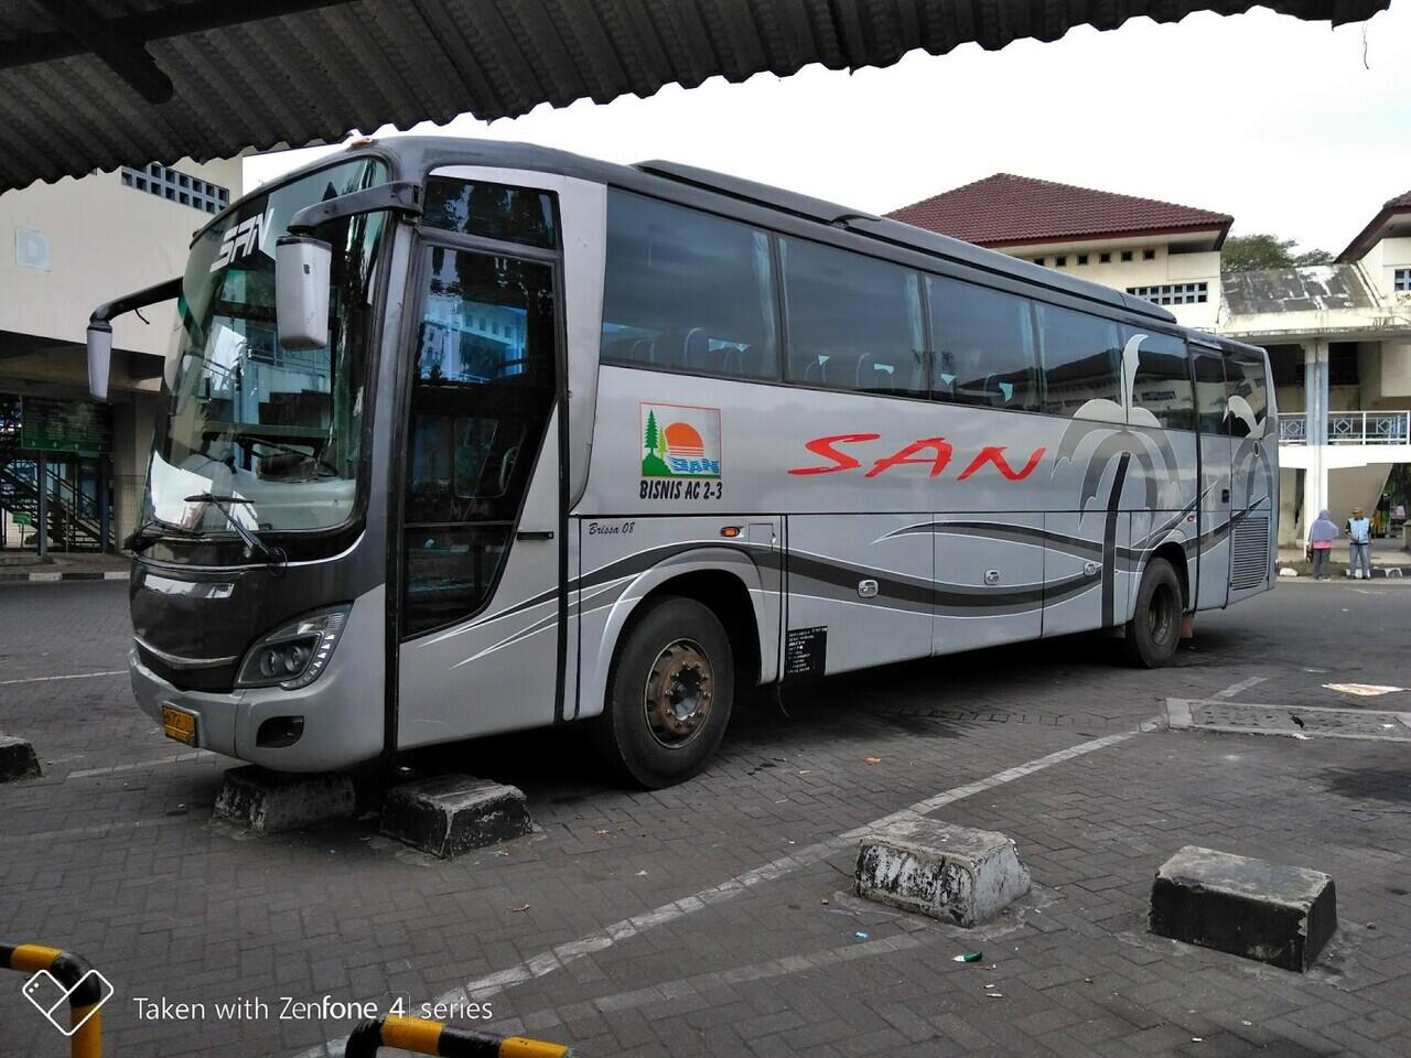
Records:
[[[440,859],[518,838],[531,825],[519,789],[464,774],[405,783],[382,803],[382,834]]]

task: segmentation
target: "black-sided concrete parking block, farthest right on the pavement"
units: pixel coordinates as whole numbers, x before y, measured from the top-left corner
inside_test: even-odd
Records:
[[[1338,928],[1328,875],[1187,845],[1151,884],[1151,932],[1304,972]]]

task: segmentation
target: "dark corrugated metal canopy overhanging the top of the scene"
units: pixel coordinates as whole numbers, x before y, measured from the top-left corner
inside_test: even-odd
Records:
[[[1263,0],[1307,20],[1390,0]],[[0,190],[1252,0],[0,0]]]

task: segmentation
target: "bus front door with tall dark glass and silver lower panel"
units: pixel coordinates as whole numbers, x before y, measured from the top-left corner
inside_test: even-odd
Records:
[[[555,265],[423,245],[406,355],[396,745],[550,724],[570,550]]]

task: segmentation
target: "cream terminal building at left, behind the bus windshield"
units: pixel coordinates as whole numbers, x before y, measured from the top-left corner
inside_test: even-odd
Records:
[[[0,554],[113,550],[135,528],[176,309],[114,322],[110,403],[89,399],[87,317],[179,275],[240,172],[152,162],[0,195]]]

